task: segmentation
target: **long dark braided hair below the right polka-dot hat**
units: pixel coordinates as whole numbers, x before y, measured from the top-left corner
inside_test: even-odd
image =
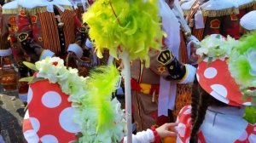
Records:
[[[199,100],[197,100],[198,98]],[[193,89],[191,106],[192,106],[192,109],[191,109],[192,129],[190,133],[189,142],[197,143],[198,142],[197,133],[201,127],[201,124],[205,119],[208,106],[227,106],[227,105],[213,98],[212,95],[208,94],[199,85],[198,89],[195,89],[195,88]]]

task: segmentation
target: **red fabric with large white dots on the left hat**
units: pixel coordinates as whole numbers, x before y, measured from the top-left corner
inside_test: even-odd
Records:
[[[23,133],[28,142],[70,142],[80,131],[73,123],[75,109],[57,83],[48,80],[32,83],[28,92],[28,112]]]

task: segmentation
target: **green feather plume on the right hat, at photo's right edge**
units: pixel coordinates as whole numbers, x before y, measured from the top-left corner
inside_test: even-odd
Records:
[[[236,83],[240,85],[244,99],[252,98],[252,106],[256,106],[256,31],[239,40],[232,49],[229,59],[229,70]]]

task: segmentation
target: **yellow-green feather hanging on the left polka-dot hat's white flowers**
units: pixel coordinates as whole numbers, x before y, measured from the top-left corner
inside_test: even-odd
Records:
[[[113,125],[114,111],[111,100],[116,89],[119,72],[114,66],[102,66],[90,73],[87,80],[87,92],[93,96],[91,104],[96,107],[98,114],[97,131],[109,129]]]

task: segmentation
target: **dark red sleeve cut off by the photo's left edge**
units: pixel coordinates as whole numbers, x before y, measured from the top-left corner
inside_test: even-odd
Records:
[[[15,18],[15,17],[14,17]],[[1,36],[0,36],[0,56],[8,56],[12,54],[9,44],[9,25],[8,25],[8,16],[5,14],[0,15],[1,22]],[[12,39],[12,38],[11,38]]]

